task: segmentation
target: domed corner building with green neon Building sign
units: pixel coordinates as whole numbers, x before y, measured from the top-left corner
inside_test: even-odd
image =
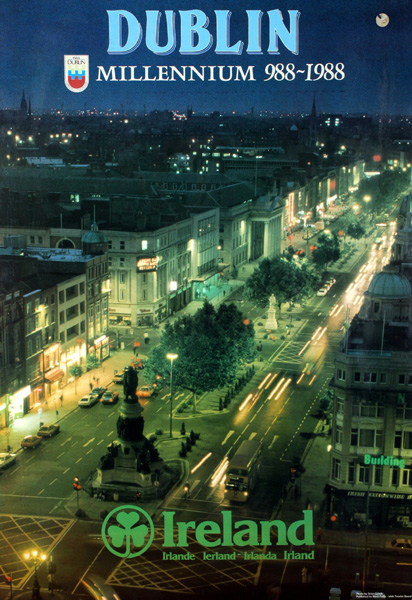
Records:
[[[347,526],[412,525],[411,250],[407,199],[391,263],[372,279],[336,358],[327,489]]]

